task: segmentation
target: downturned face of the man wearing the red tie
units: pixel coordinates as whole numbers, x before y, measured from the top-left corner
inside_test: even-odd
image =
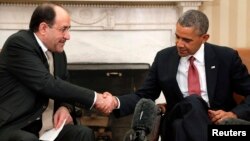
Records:
[[[208,34],[199,35],[193,27],[183,27],[176,24],[176,47],[181,57],[193,55],[202,43],[209,38]]]

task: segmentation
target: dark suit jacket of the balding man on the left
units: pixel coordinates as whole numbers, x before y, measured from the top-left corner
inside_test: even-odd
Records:
[[[54,53],[55,74],[31,31],[11,35],[0,53],[0,131],[19,129],[46,109],[48,99],[90,108],[94,91],[65,81],[68,78],[65,53]]]

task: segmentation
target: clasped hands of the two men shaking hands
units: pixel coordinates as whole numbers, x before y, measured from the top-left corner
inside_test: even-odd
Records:
[[[97,93],[97,99],[95,102],[95,109],[109,115],[118,106],[118,101],[115,96],[109,92],[104,92],[103,94]]]

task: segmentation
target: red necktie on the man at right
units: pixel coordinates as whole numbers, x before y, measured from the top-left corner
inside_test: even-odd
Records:
[[[199,74],[197,68],[194,65],[195,58],[191,56],[189,58],[189,68],[188,68],[188,92],[189,94],[197,94],[200,95],[200,81],[199,81]]]

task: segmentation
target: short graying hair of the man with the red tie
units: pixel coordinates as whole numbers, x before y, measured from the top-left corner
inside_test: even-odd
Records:
[[[183,27],[194,27],[197,34],[206,34],[209,27],[207,16],[199,10],[188,10],[177,21]]]

